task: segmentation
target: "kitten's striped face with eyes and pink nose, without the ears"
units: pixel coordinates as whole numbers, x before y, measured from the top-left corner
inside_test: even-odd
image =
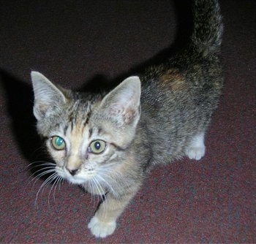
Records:
[[[84,104],[81,107],[85,107]],[[97,105],[91,107],[94,110]],[[47,147],[56,162],[56,172],[69,182],[84,184],[94,178],[99,180],[100,175],[116,167],[118,156],[122,156],[135,130],[131,129],[127,136],[124,129],[116,128],[97,113],[83,117],[79,113],[85,110],[80,108],[72,121],[63,121],[48,132]]]

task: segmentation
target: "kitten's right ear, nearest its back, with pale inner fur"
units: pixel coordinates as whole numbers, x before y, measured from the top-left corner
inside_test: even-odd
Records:
[[[102,100],[105,113],[123,123],[136,123],[140,118],[140,78],[128,77]]]

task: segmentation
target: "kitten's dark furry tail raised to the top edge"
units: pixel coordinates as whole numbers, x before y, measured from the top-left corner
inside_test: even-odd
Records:
[[[222,15],[217,0],[195,0],[192,50],[208,56],[218,53],[222,42]]]

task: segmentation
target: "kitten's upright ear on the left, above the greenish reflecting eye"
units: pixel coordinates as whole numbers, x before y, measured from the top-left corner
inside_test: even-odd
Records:
[[[66,97],[53,83],[39,72],[31,72],[34,89],[34,116],[37,120],[50,115],[66,102]]]

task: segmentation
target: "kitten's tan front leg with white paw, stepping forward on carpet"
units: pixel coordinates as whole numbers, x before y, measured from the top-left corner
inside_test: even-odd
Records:
[[[116,220],[128,205],[129,200],[135,196],[138,186],[133,191],[124,192],[122,196],[114,197],[109,193],[104,202],[99,205],[99,209],[88,224],[91,233],[96,237],[107,237],[113,234],[116,229]]]

